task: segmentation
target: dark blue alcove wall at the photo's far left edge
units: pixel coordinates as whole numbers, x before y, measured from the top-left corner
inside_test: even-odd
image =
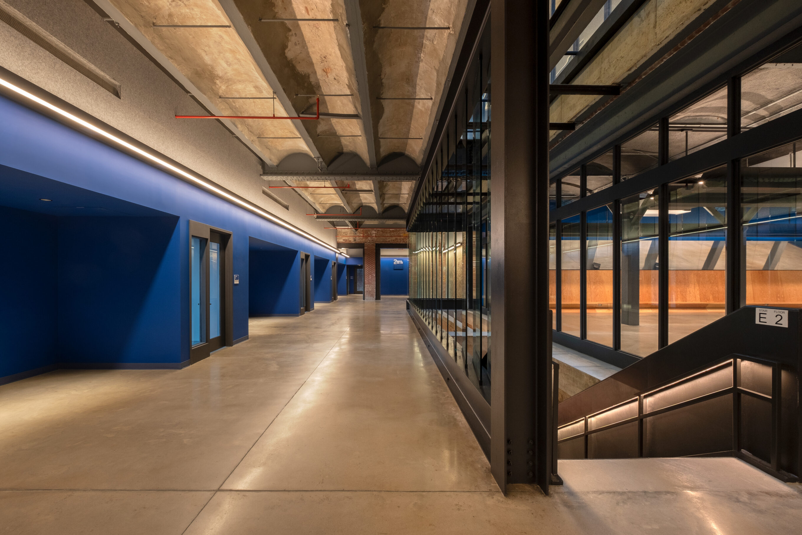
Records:
[[[0,377],[58,359],[56,218],[0,207],[6,255],[0,261]]]

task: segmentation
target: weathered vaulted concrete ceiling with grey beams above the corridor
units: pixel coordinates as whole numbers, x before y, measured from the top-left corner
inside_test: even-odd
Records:
[[[318,120],[232,120],[266,174],[414,175],[470,0],[95,2],[122,14],[217,115],[309,118],[320,95]],[[406,212],[415,183],[342,176],[287,184],[307,186],[296,191],[321,212],[370,205],[382,213],[393,205]]]

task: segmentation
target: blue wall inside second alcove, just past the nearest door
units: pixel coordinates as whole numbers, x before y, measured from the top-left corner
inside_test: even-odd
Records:
[[[249,315],[301,313],[298,251],[250,251]]]

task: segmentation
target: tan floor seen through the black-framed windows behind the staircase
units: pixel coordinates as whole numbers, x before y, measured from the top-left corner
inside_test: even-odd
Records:
[[[641,310],[638,325],[621,326],[621,349],[633,355],[645,357],[658,349],[657,309]],[[723,309],[669,309],[668,342],[676,342],[701,329],[708,323],[724,317]],[[579,310],[562,311],[562,331],[579,336]],[[613,310],[588,310],[587,339],[602,345],[613,346]]]

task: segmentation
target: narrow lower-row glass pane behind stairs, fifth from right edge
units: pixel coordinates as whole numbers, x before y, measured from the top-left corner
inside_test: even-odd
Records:
[[[562,332],[579,336],[580,217],[562,221],[560,241],[560,315]]]

